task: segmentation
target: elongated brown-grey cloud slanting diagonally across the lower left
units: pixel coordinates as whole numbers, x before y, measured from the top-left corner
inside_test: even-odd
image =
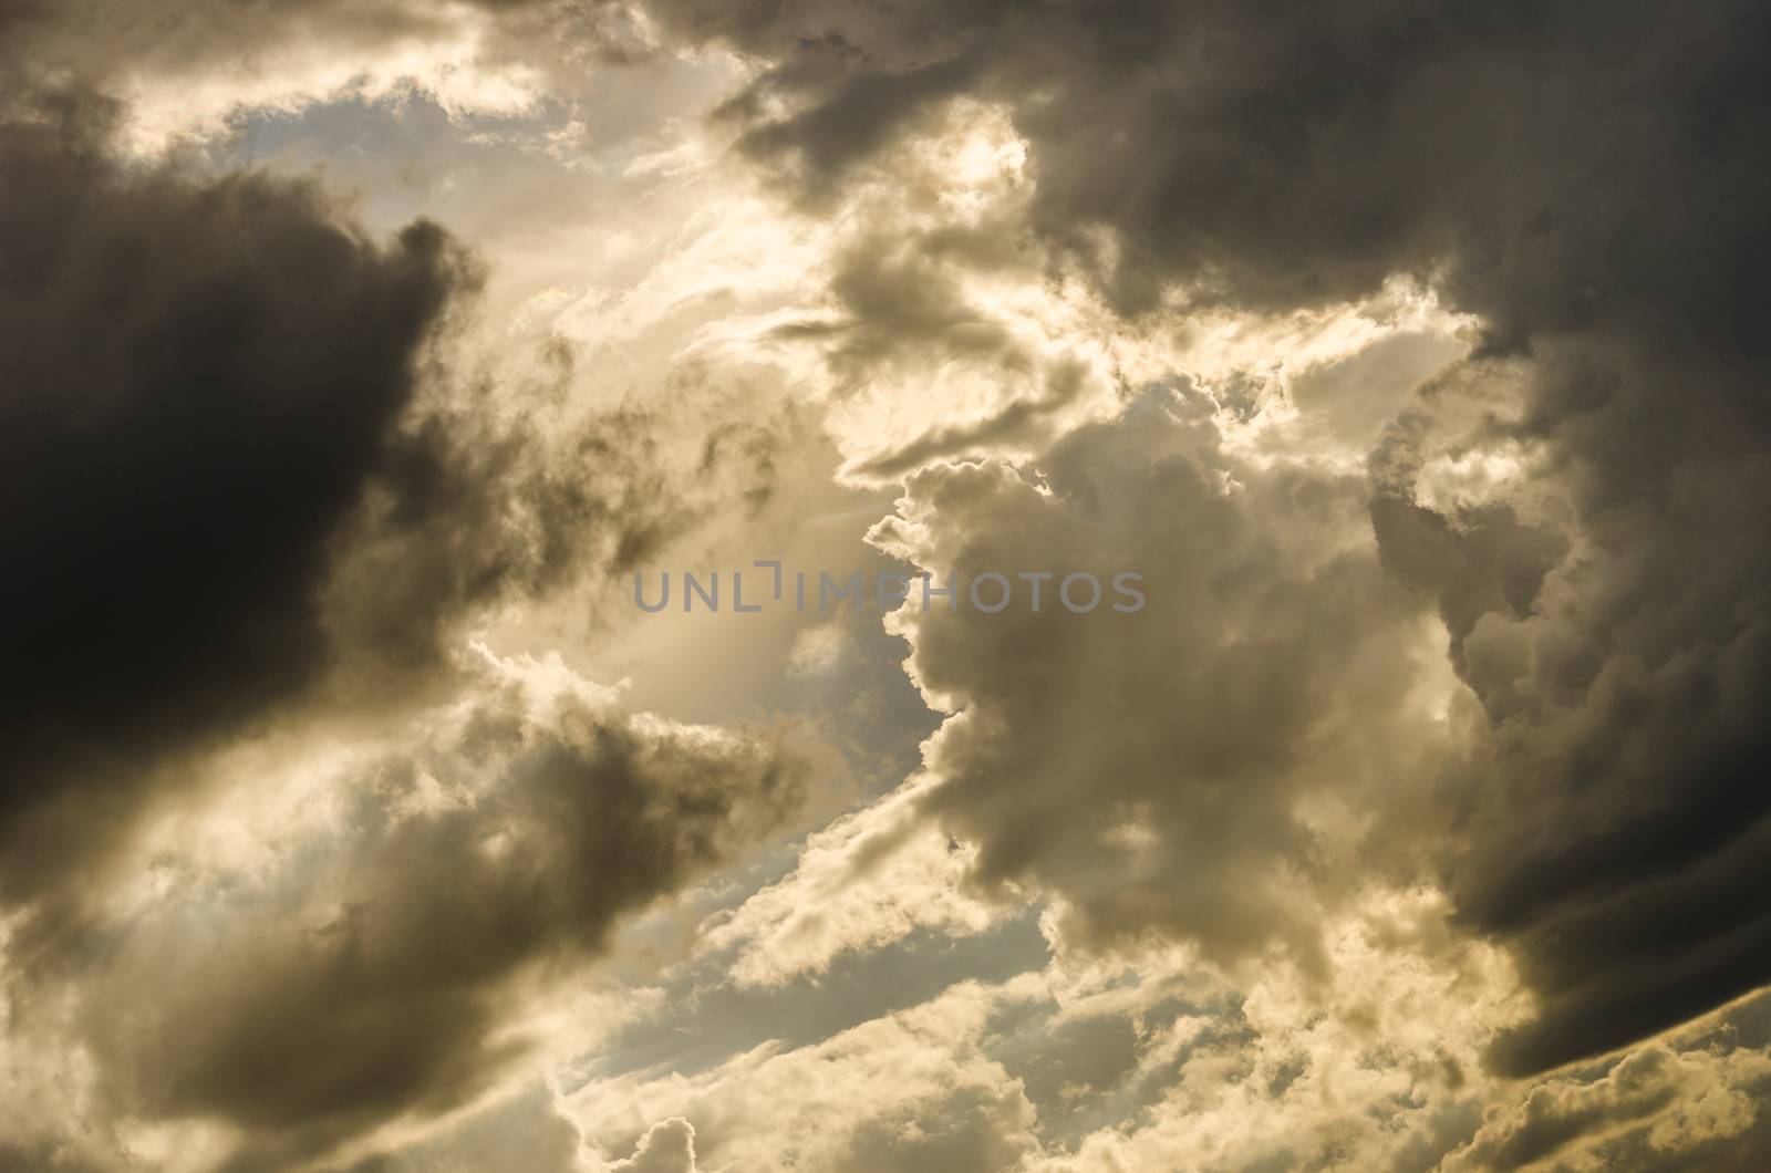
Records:
[[[266,874],[193,874],[108,930],[81,1031],[122,1111],[239,1127],[223,1168],[459,1107],[537,1042],[510,1029],[524,978],[770,831],[802,773],[760,734],[498,687],[342,778],[340,826]]]

